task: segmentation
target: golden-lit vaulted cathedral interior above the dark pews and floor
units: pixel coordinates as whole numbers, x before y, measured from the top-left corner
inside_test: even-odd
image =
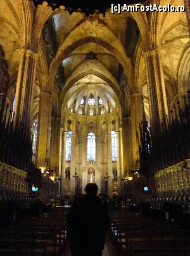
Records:
[[[103,198],[189,213],[189,1],[138,1],[176,13],[39,2],[0,3],[1,203],[59,204],[96,182]]]

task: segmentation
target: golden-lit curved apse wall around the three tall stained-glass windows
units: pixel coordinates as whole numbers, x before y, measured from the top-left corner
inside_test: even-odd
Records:
[[[70,111],[64,112],[63,121],[63,140],[61,142],[61,177],[62,193],[70,196],[76,192],[84,193],[85,185],[88,182],[88,170],[95,171],[95,182],[99,187],[98,193],[106,193],[106,172],[108,173],[108,194],[110,197],[114,194],[121,194],[122,182],[122,156],[121,137],[122,128],[118,113],[113,111],[101,116],[80,116]],[[70,129],[72,131],[72,151],[71,161],[66,161],[65,144],[66,144],[66,127],[68,120],[71,121]],[[113,130],[112,121],[115,121],[117,132],[117,161],[111,159],[111,130]],[[76,126],[77,124],[77,126]],[[80,124],[80,128],[79,128]],[[77,129],[76,129],[77,127]],[[96,161],[91,163],[87,161],[87,134],[92,131],[96,135]],[[70,181],[66,178],[66,168],[70,168]],[[117,170],[117,182],[113,180],[113,170]],[[77,172],[79,177],[73,177]],[[114,182],[113,182],[114,181]],[[70,185],[68,184],[70,183]],[[116,184],[117,183],[117,184]]]

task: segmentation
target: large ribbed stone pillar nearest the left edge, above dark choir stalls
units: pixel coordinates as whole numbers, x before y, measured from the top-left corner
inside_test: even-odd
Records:
[[[15,93],[15,120],[30,128],[32,91],[35,83],[35,66],[39,55],[30,50],[20,50],[20,65]]]

